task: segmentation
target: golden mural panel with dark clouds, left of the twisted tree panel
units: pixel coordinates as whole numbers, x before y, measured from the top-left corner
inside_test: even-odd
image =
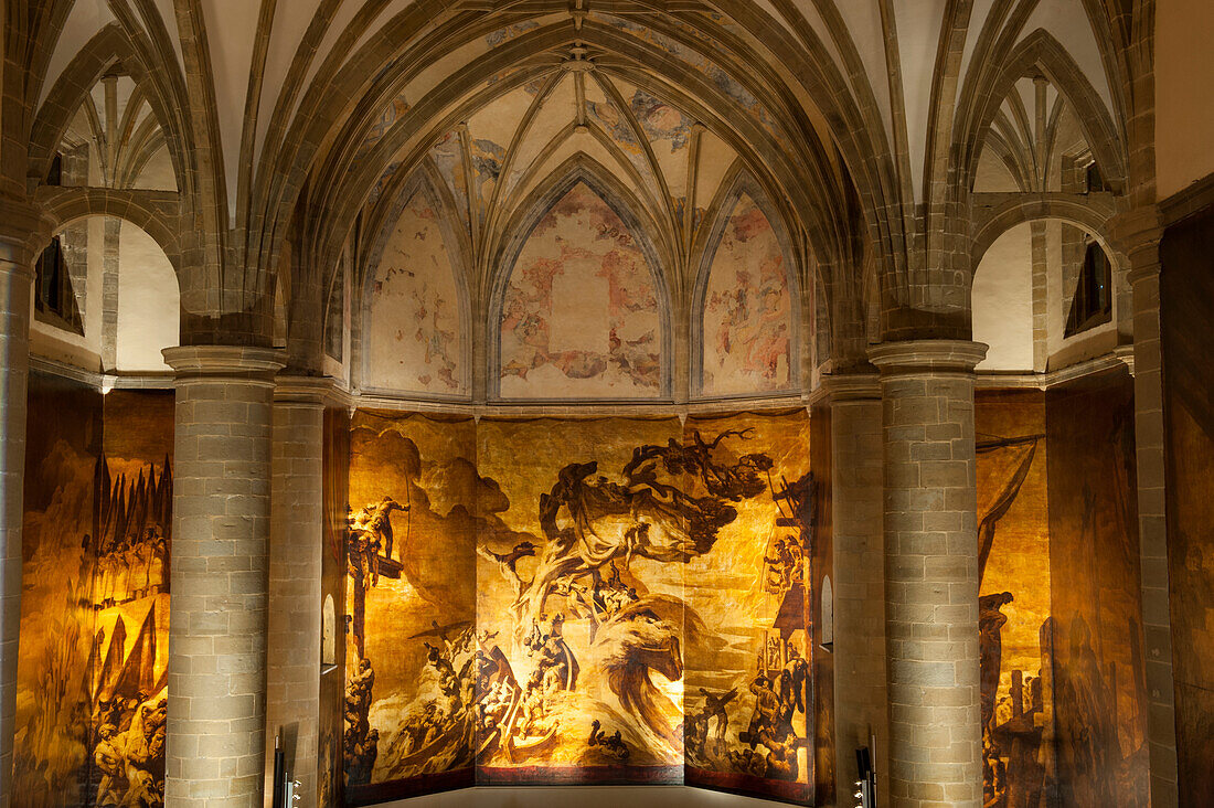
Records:
[[[439,775],[461,769],[471,780],[473,430],[365,411],[352,422],[342,748],[354,801],[449,787],[459,780]]]

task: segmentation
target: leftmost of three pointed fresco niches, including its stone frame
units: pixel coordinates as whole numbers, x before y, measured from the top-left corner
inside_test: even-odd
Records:
[[[419,171],[384,222],[362,288],[362,386],[465,399],[469,305],[449,205]]]

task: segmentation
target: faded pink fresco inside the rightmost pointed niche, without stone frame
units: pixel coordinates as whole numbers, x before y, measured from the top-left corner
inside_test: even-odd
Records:
[[[766,214],[742,194],[728,215],[704,292],[705,395],[789,386],[788,262]]]

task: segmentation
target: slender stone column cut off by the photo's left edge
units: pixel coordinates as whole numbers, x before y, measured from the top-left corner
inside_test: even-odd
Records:
[[[5,205],[5,216],[16,216]],[[8,222],[5,222],[8,224]],[[33,260],[27,232],[0,232],[0,807],[12,789],[21,632],[21,522]]]

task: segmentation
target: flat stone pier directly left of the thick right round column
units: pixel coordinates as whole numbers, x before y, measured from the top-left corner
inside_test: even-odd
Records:
[[[875,373],[828,375],[823,385],[830,396],[835,772],[839,793],[850,795],[858,776],[855,751],[869,746],[870,736],[881,786],[889,772],[881,388]],[[889,804],[884,787],[878,797]]]

